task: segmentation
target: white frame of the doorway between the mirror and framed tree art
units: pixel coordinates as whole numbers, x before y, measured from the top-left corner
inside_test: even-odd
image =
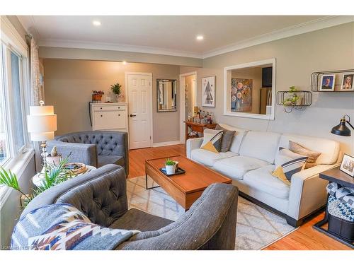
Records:
[[[197,102],[198,76],[197,71],[181,73],[179,75],[179,141],[185,143],[185,76],[195,75],[195,102]]]

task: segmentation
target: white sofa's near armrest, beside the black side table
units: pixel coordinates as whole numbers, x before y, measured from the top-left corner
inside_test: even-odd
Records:
[[[319,178],[319,173],[338,167],[316,165],[292,175],[287,215],[299,220],[326,204],[328,181]]]

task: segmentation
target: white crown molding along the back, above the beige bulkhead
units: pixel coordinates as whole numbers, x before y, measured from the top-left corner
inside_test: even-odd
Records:
[[[190,57],[196,59],[202,59],[202,54],[197,52],[185,52],[175,49],[163,49],[149,46],[136,46],[136,45],[120,45],[114,43],[105,42],[81,42],[76,40],[55,40],[47,39],[40,40],[39,46],[42,47],[61,47],[61,48],[77,48],[77,49],[101,49],[109,51],[119,52],[139,52],[147,54],[159,54],[176,57]]]

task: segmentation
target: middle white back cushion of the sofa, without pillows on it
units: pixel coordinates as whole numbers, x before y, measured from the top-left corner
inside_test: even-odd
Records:
[[[278,151],[280,134],[267,131],[248,131],[239,151],[240,155],[250,156],[274,163]]]

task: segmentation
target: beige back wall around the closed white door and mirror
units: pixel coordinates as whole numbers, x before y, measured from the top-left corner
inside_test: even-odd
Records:
[[[120,83],[125,89],[125,72],[135,71],[152,73],[153,76],[154,143],[179,140],[179,105],[177,112],[156,112],[156,79],[178,80],[179,66],[130,63],[123,65],[115,61],[74,59],[44,59],[43,64],[45,103],[55,106],[57,135],[91,130],[88,108],[91,90],[104,90],[105,100],[110,85]]]

